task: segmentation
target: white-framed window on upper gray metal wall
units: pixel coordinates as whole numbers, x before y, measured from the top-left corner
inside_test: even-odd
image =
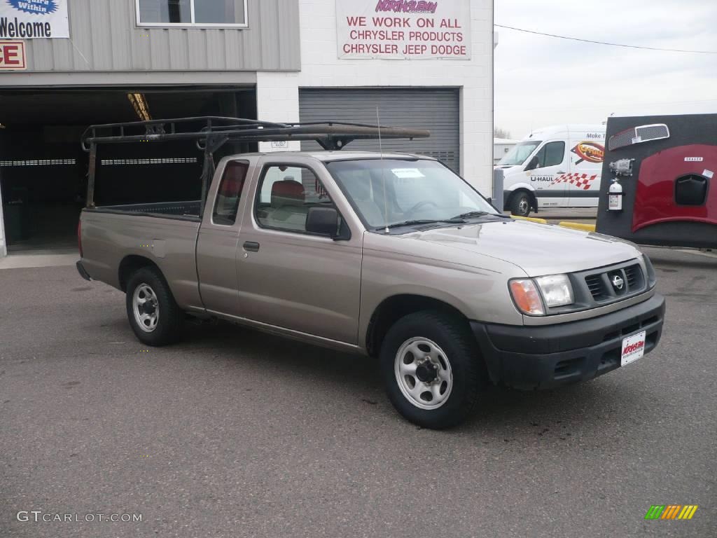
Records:
[[[247,27],[247,0],[136,0],[143,27]]]

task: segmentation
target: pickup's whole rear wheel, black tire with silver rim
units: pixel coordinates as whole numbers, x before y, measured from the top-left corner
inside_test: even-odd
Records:
[[[139,341],[164,346],[179,340],[184,315],[161,273],[141,268],[127,284],[127,318]]]

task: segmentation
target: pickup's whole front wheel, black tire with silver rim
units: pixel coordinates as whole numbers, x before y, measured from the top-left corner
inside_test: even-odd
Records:
[[[464,320],[433,311],[394,324],[381,346],[381,374],[389,400],[424,428],[457,425],[485,387],[485,367]]]

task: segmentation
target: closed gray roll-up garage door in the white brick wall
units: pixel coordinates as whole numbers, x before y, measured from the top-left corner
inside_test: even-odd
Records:
[[[455,88],[304,88],[299,92],[303,122],[346,121],[376,124],[379,107],[381,125],[426,128],[430,138],[414,141],[384,141],[384,151],[422,154],[460,168],[460,108]],[[308,151],[317,143],[304,142]],[[354,141],[347,149],[378,151],[378,141]]]

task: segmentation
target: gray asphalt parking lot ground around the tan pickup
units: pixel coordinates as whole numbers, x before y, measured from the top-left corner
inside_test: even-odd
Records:
[[[0,270],[0,537],[712,537],[717,258],[647,249],[660,346],[587,384],[402,420],[376,362],[228,324],[147,349],[74,268]],[[690,521],[645,521],[698,504]],[[142,514],[139,523],[19,522]]]

